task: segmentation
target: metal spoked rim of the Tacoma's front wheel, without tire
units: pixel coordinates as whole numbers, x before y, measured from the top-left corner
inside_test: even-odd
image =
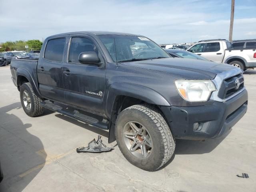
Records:
[[[129,121],[124,125],[123,140],[128,151],[139,159],[146,159],[152,153],[151,136],[146,127],[139,122]]]

